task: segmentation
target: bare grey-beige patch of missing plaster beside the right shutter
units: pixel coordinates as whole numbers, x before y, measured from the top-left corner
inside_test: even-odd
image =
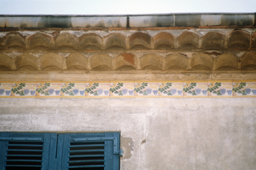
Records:
[[[123,159],[128,159],[132,156],[131,151],[134,150],[134,142],[131,137],[120,137],[120,148],[123,149]]]

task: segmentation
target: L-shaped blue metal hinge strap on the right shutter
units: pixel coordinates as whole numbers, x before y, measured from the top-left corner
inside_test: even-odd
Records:
[[[123,156],[123,149],[117,148],[117,138],[116,137],[88,137],[88,138],[74,138],[75,142],[77,141],[92,141],[92,140],[113,140],[113,153]]]

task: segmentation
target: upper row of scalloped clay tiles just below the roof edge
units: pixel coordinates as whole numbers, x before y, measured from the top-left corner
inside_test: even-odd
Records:
[[[254,49],[254,29],[0,30],[2,50]],[[118,48],[115,48],[118,47]]]

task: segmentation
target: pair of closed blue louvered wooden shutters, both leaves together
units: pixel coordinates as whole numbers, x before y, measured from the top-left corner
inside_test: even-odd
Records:
[[[119,141],[119,132],[0,132],[0,170],[118,170]]]

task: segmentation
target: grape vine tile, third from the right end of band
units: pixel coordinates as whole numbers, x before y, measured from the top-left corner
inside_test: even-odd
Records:
[[[205,81],[183,81],[184,97],[208,97],[207,82]]]

